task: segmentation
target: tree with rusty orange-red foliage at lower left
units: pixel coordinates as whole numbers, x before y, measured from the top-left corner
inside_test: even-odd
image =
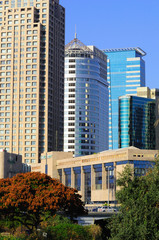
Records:
[[[77,190],[41,173],[0,180],[0,214],[10,221],[18,221],[33,231],[46,213],[59,211],[71,218],[86,213]]]

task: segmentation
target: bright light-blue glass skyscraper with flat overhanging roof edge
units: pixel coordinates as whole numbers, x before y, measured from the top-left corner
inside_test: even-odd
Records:
[[[145,86],[145,52],[140,48],[106,49],[109,82],[109,149],[118,148],[118,98]]]

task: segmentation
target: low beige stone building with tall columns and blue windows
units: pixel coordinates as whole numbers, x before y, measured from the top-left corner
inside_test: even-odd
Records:
[[[70,154],[70,155],[68,155]],[[58,178],[64,185],[76,188],[85,203],[116,203],[116,180],[119,173],[129,164],[135,176],[144,175],[153,167],[158,157],[157,150],[143,150],[135,147],[108,150],[98,154],[73,158],[71,153],[47,153],[41,163],[32,166],[32,171],[45,173]]]

